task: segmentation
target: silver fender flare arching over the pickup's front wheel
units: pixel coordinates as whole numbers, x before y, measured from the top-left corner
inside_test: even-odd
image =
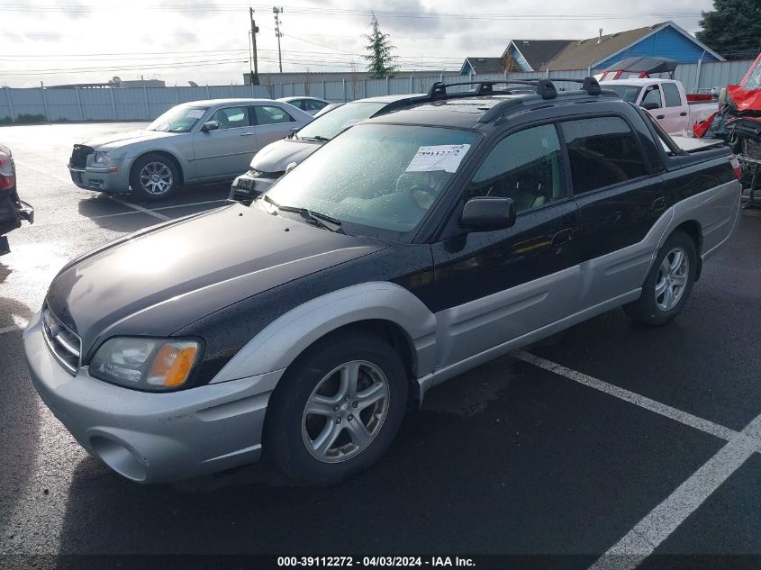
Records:
[[[272,321],[213,377],[212,383],[267,374],[290,366],[306,348],[333,330],[358,321],[390,321],[412,340],[416,377],[435,366],[436,316],[400,285],[370,282],[324,294]]]

